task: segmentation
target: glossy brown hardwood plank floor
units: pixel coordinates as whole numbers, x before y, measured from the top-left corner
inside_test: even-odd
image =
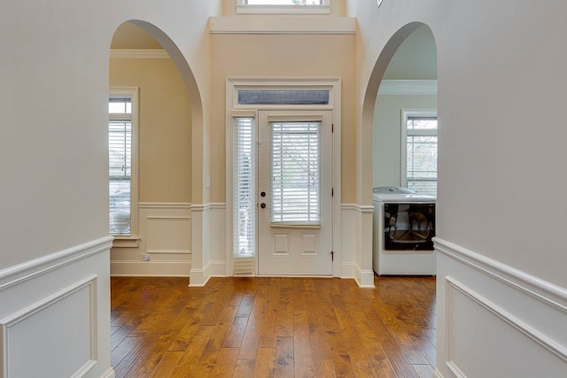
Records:
[[[431,377],[435,278],[113,277],[116,377]]]

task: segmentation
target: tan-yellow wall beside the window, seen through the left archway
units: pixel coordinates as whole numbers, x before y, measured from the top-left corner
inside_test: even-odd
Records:
[[[112,58],[110,87],[139,88],[139,201],[191,201],[191,114],[169,58]]]

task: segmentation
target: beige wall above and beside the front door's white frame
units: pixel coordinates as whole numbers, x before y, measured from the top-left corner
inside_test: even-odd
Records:
[[[342,202],[354,200],[354,35],[211,36],[211,198],[225,202],[227,78],[342,80]]]

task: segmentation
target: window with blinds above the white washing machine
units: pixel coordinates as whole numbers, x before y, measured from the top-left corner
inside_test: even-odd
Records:
[[[416,193],[437,197],[437,114],[405,111],[402,122],[402,184]]]

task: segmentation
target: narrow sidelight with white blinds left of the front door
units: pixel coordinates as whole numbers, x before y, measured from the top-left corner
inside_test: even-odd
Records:
[[[256,251],[256,150],[254,149],[254,119],[252,117],[235,118],[233,136],[234,256],[253,257]]]

